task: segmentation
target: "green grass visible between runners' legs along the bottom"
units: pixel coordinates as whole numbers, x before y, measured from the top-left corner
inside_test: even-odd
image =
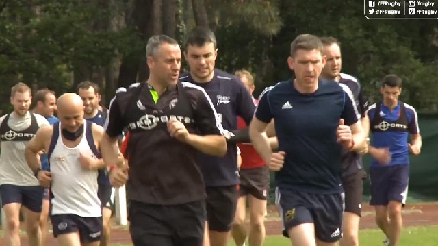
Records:
[[[383,246],[384,236],[379,230],[361,230],[359,241],[361,246]],[[436,246],[438,243],[438,226],[408,227],[403,230],[400,246]],[[230,246],[235,244],[231,242]],[[266,246],[290,246],[283,236],[268,236]],[[132,246],[131,244],[115,244],[112,246]]]

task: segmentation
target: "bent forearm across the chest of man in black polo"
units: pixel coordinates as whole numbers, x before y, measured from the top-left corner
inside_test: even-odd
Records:
[[[220,135],[199,136],[196,134],[189,134],[186,143],[195,149],[212,156],[224,156],[225,153],[227,153],[227,141],[224,136]]]

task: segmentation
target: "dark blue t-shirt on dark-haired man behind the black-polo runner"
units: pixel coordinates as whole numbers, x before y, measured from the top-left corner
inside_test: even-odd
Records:
[[[196,83],[190,73],[181,75],[179,79],[204,88],[216,108],[218,119],[224,130],[230,132],[237,130],[237,116],[241,116],[249,125],[255,106],[250,93],[239,78],[215,69],[214,77],[208,83]],[[204,153],[199,153],[199,155],[206,186],[239,184],[237,145],[229,144],[227,154],[221,158]]]

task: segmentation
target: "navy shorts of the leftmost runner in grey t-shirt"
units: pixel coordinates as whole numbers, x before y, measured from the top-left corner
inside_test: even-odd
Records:
[[[22,204],[32,212],[41,212],[43,194],[44,187],[42,186],[0,185],[2,207],[6,204],[17,203]]]

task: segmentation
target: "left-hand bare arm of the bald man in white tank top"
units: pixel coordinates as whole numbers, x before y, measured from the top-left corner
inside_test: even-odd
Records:
[[[41,127],[36,132],[34,138],[31,138],[25,149],[25,158],[32,173],[41,169],[40,151],[44,150],[47,141],[51,139],[53,128],[51,126]]]

